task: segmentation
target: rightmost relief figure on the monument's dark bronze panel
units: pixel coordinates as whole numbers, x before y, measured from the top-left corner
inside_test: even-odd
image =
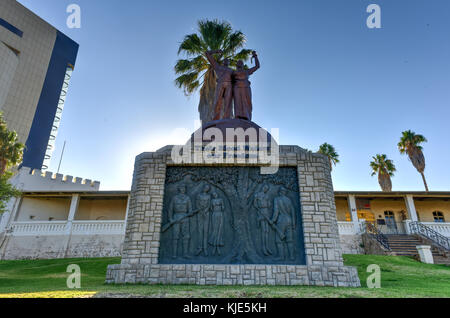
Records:
[[[294,233],[295,233],[295,208],[286,196],[286,189],[281,187],[279,190],[279,196],[273,200],[273,216],[272,222],[278,226],[282,236],[277,233],[275,242],[278,249],[279,260],[285,260],[285,248],[289,253],[291,260],[295,259],[294,253]]]

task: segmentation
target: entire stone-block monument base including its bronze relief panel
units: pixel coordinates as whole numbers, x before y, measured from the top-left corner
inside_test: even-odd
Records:
[[[278,172],[262,175],[255,167],[263,162],[178,163],[172,149],[136,158],[122,261],[108,266],[106,283],[360,286],[356,268],[343,263],[326,156],[279,146]],[[204,197],[212,192],[215,207],[206,210],[214,220],[207,233],[223,226],[222,237],[214,236],[199,253],[205,245],[195,214],[201,205],[194,199],[202,191]],[[270,202],[265,211],[272,218],[284,213],[282,222],[272,221],[265,243],[261,202]],[[173,206],[185,218],[171,215]],[[283,246],[289,253],[280,252]]]

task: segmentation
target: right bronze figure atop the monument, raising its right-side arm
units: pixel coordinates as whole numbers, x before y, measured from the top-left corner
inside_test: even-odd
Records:
[[[244,62],[239,60],[236,71],[233,72],[234,118],[252,120],[252,90],[248,79],[260,67],[258,55],[255,51],[253,51],[253,58],[255,59],[254,67],[246,70]]]

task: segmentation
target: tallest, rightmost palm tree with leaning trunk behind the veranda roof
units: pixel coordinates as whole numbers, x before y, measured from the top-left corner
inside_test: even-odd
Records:
[[[409,160],[417,171],[422,176],[423,184],[425,185],[425,190],[428,192],[427,181],[425,180],[425,156],[423,155],[423,148],[421,143],[427,142],[427,139],[411,130],[406,130],[402,132],[400,137],[400,142],[398,143],[398,150],[401,154],[408,154]]]

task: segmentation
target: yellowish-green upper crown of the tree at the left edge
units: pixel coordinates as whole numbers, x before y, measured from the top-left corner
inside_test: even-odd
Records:
[[[0,175],[22,161],[24,145],[17,141],[17,133],[9,131],[0,113]]]

